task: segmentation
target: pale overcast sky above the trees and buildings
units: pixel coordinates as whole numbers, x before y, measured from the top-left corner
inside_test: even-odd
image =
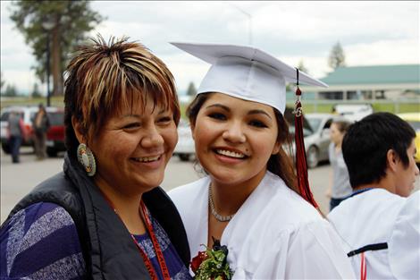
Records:
[[[35,60],[13,27],[10,6],[1,1],[1,71],[6,83],[29,91],[39,83]],[[249,45],[252,38],[251,45],[287,64],[302,60],[316,78],[331,71],[328,55],[338,41],[349,66],[420,64],[418,1],[95,1],[91,8],[106,17],[92,36],[142,42],[169,66],[181,91],[189,81],[197,86],[209,65],[171,41]]]

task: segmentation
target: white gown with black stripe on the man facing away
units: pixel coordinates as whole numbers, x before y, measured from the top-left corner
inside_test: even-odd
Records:
[[[365,251],[367,279],[419,278],[418,212],[417,221],[414,216],[410,216],[411,214],[404,216],[401,210],[406,201],[406,198],[390,191],[373,189],[342,201],[328,215],[328,219],[342,238],[343,246],[347,252],[370,244],[388,243],[388,249]],[[418,199],[413,201],[413,205],[415,202],[418,203]],[[410,212],[410,210],[407,209],[406,212]],[[395,229],[396,226],[397,229]],[[415,228],[410,229],[411,226]],[[407,230],[413,231],[411,238],[404,237]],[[392,237],[393,233],[396,234],[394,237]],[[392,244],[392,238],[398,242]],[[408,256],[414,259],[407,260],[401,257],[407,253],[410,253]],[[357,277],[360,277],[360,256],[357,254],[350,257]],[[404,259],[406,262],[402,261]],[[407,267],[407,263],[414,264],[413,261],[417,261],[416,267]],[[416,270],[417,275],[411,273],[411,276],[407,276],[408,270]]]

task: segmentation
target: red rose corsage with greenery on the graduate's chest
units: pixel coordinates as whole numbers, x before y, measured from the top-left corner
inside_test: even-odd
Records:
[[[206,247],[206,245],[203,245]],[[221,246],[220,241],[213,239],[213,248],[206,247],[205,251],[191,260],[191,270],[196,280],[230,280],[233,276],[227,261],[228,248]]]

